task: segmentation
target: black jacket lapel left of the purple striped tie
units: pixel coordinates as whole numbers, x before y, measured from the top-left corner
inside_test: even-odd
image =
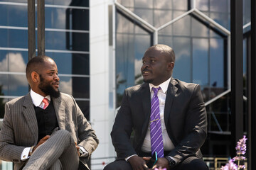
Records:
[[[151,97],[150,97],[150,89],[149,84],[143,84],[142,85],[142,91],[140,94],[140,97],[142,98],[142,107],[144,111],[144,115],[146,118],[146,121],[143,120],[144,124],[142,127],[142,133],[146,135],[146,130],[149,126],[149,118],[150,118],[150,108],[151,108]]]

